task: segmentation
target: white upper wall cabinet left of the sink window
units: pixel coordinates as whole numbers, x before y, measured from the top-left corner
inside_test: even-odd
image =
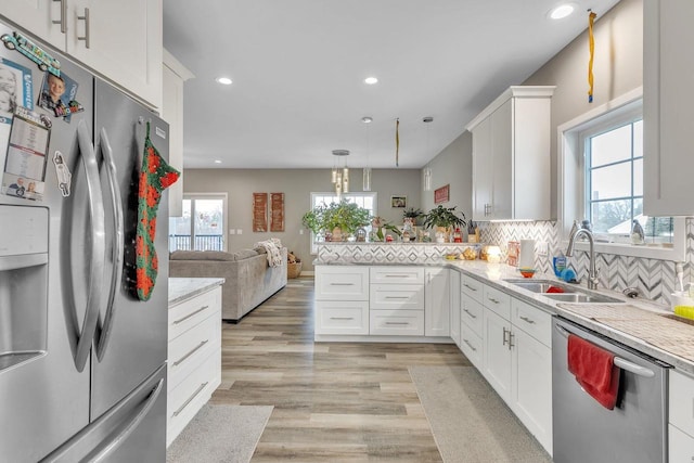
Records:
[[[553,86],[514,86],[466,127],[473,134],[473,219],[550,219]]]

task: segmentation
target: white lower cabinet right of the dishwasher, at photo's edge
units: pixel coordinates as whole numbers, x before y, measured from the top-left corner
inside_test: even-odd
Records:
[[[694,462],[694,377],[670,370],[668,435],[670,462]]]

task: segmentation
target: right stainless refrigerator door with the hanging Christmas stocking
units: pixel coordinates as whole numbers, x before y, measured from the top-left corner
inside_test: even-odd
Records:
[[[92,356],[92,410],[95,420],[118,400],[127,396],[138,384],[166,361],[167,348],[167,307],[168,307],[168,202],[166,195],[159,203],[156,248],[158,250],[158,276],[154,293],[146,303],[140,301],[134,293],[136,280],[136,228],[138,223],[138,189],[140,165],[146,121],[151,120],[151,139],[164,158],[168,158],[168,125],[144,106],[131,100],[111,85],[95,79],[94,83],[94,138],[97,145],[102,129],[107,133],[108,145],[113,153],[117,189],[111,190],[108,159],[101,159],[102,185],[104,185],[104,206],[106,208],[107,249],[117,247],[119,228],[117,207],[114,207],[111,191],[119,191],[123,209],[123,237],[125,254],[123,265],[111,252],[107,254],[104,281],[118,282],[119,287],[113,301],[110,340],[103,351]],[[98,150],[98,156],[103,150]],[[115,268],[114,267],[118,267]],[[121,272],[112,278],[113,271]],[[110,288],[104,290],[100,325],[97,330],[97,345],[104,333],[104,321],[108,319],[107,305]]]

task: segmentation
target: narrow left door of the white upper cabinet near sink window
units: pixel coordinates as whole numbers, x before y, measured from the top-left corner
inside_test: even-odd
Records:
[[[489,220],[491,210],[491,120],[473,129],[473,219]]]

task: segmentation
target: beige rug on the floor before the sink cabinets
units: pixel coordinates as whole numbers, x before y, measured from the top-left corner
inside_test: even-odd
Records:
[[[411,366],[445,463],[552,459],[474,366]]]

